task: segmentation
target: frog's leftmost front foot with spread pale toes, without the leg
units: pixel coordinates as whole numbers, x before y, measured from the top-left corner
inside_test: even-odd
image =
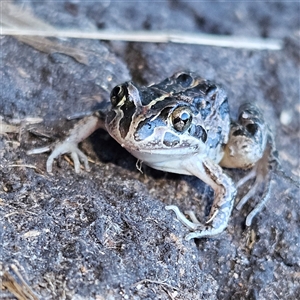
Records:
[[[78,148],[77,143],[68,141],[68,139],[63,142],[60,142],[58,144],[29,150],[27,152],[27,154],[29,154],[29,155],[30,154],[39,154],[39,153],[44,153],[44,152],[48,152],[51,150],[52,150],[52,153],[48,157],[47,163],[46,163],[46,169],[47,169],[48,173],[52,173],[52,165],[53,165],[54,159],[58,158],[60,155],[66,154],[66,153],[70,154],[70,156],[74,162],[74,169],[75,169],[76,173],[80,172],[80,162],[82,162],[84,164],[84,168],[87,171],[90,170],[88,159],[87,159],[86,155]]]

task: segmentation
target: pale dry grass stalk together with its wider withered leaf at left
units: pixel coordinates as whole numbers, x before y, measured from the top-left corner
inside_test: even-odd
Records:
[[[35,17],[29,9],[20,9],[10,3],[3,3],[3,35],[18,36],[24,43],[43,52],[61,52],[74,57],[81,63],[87,63],[76,49],[64,47],[47,40],[45,37],[64,37],[78,39],[116,40],[127,42],[180,43],[209,45],[217,47],[244,48],[256,50],[280,50],[283,41],[270,38],[251,38],[239,36],[213,35],[178,31],[106,31],[84,32],[78,30],[60,30]],[[35,28],[39,28],[36,30]],[[22,36],[22,37],[20,37]],[[25,37],[27,36],[27,37]],[[34,38],[32,37],[34,36]],[[39,38],[37,38],[39,36]],[[75,52],[75,53],[74,53]]]

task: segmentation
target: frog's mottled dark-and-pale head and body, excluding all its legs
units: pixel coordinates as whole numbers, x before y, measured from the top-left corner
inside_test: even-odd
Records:
[[[219,163],[230,118],[223,89],[194,74],[179,73],[159,84],[137,88],[126,82],[111,93],[109,134],[145,164],[188,174],[186,162]]]

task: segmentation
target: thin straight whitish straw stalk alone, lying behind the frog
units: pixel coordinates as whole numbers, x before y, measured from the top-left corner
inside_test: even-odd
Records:
[[[245,48],[257,50],[280,50],[283,42],[280,39],[250,38],[180,31],[107,31],[84,32],[78,30],[36,30],[0,28],[1,35],[64,37],[77,39],[115,40],[127,42],[180,43],[210,45],[217,47]]]

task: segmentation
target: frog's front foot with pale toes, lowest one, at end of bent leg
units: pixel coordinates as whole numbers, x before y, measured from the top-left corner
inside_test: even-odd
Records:
[[[224,231],[227,227],[228,220],[226,218],[220,218],[222,214],[211,217],[205,225],[201,224],[193,211],[186,212],[191,218],[192,222],[186,218],[186,216],[179,210],[176,205],[168,205],[165,207],[167,210],[173,210],[176,214],[177,219],[192,232],[187,234],[185,237],[186,241],[195,238],[212,237]]]

